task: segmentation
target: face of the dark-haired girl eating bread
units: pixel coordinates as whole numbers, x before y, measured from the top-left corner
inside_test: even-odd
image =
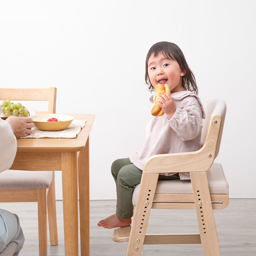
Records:
[[[148,59],[148,76],[151,84],[168,84],[171,93],[183,91],[182,76],[180,65],[176,60],[167,59],[162,53],[157,56],[153,54]]]

